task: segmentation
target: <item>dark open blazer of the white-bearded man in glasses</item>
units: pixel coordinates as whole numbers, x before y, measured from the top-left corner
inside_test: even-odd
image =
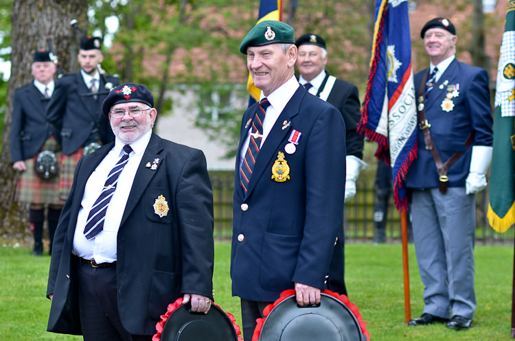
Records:
[[[113,143],[80,159],[54,237],[47,295],[54,294],[48,330],[82,333],[76,266],[71,255],[86,182]],[[159,158],[156,170],[146,163]],[[153,204],[168,201],[159,217]],[[204,154],[152,134],[137,169],[118,231],[118,309],[124,328],[152,335],[160,315],[183,293],[212,296],[213,196]]]

